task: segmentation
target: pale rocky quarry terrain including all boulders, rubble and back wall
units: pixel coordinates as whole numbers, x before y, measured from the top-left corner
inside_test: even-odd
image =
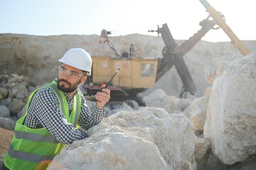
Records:
[[[161,38],[112,40],[123,51],[135,41],[140,55],[162,56]],[[173,67],[140,94],[145,106],[109,103],[102,123],[88,138],[67,146],[49,169],[255,169],[256,42],[244,43],[252,51],[246,57],[230,42],[200,41],[184,56],[196,95],[179,98],[182,81]],[[57,59],[69,47],[102,55],[98,35],[0,35],[0,159],[28,95],[55,78]],[[113,55],[104,48],[103,55]]]

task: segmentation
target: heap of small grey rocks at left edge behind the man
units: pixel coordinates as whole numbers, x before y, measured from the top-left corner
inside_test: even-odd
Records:
[[[28,95],[36,89],[28,77],[0,75],[0,127],[13,130],[17,118],[26,111]]]

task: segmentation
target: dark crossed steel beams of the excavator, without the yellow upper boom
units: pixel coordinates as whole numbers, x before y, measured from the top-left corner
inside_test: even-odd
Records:
[[[162,35],[162,39],[165,42],[165,47],[162,50],[162,55],[164,57],[159,60],[157,67],[157,80],[171,69],[172,66],[175,66],[179,77],[182,79],[184,84],[183,92],[189,91],[191,94],[196,94],[196,86],[182,57],[191,50],[191,48],[194,47],[194,45],[196,45],[196,43],[199,42],[199,40],[201,40],[209,30],[216,26],[216,22],[209,20],[208,17],[201,21],[199,25],[201,26],[201,29],[191,36],[189,40],[182,42],[181,45],[176,44],[166,23],[162,25],[162,28],[157,26],[156,30],[158,35]],[[154,30],[149,31],[154,32]]]

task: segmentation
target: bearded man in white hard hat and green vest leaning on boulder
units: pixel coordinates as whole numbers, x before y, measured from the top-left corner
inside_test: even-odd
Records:
[[[96,93],[92,111],[79,91],[79,85],[91,75],[91,56],[81,48],[73,48],[59,61],[57,79],[28,98],[26,114],[16,122],[1,170],[46,169],[65,145],[87,137],[86,130],[104,118],[111,91]]]

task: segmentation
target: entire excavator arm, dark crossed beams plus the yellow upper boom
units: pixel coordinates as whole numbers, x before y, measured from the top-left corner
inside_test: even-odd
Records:
[[[194,45],[196,45],[196,43],[199,42],[199,40],[201,40],[209,30],[222,28],[231,39],[233,45],[243,55],[250,53],[245,45],[243,45],[243,42],[238,39],[235,33],[233,33],[226,24],[223,14],[216,11],[210,4],[208,4],[208,1],[199,1],[204,5],[206,11],[210,13],[210,16],[200,22],[200,26],[202,26],[201,30],[195,33],[191,38],[189,38],[189,40],[184,41],[181,45],[176,44],[166,23],[162,25],[162,28],[157,26],[157,30],[148,30],[149,32],[157,32],[158,35],[161,34],[162,39],[165,42],[165,47],[162,50],[163,58],[159,60],[157,67],[156,80],[160,79],[169,69],[172,68],[172,66],[175,66],[179,77],[182,79],[184,84],[184,91],[189,91],[191,94],[196,94],[196,86],[182,57],[191,50],[191,48],[194,47]],[[210,20],[210,17],[213,18],[213,20]]]

